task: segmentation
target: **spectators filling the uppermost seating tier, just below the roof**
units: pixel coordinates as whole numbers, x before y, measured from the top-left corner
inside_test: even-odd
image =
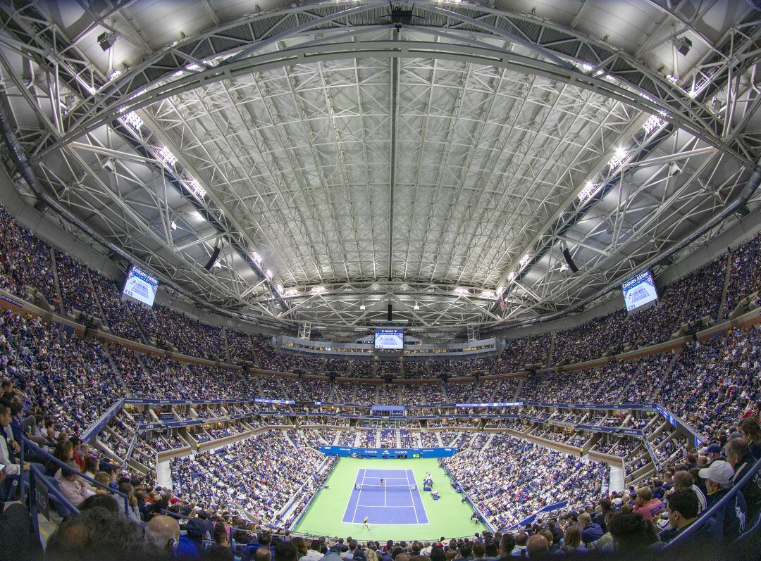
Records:
[[[0,247],[5,250],[0,259],[0,286],[19,296],[27,296],[27,286],[31,286],[40,290],[50,303],[58,304],[49,246],[19,226],[2,208],[0,225],[3,227]],[[725,313],[731,312],[741,298],[761,286],[755,274],[761,255],[759,240],[761,236],[754,236],[731,252]],[[153,309],[125,303],[112,281],[63,252],[56,250],[55,256],[62,309],[78,309],[100,317],[114,334],[125,338],[156,341],[177,348],[180,353],[228,360],[228,345],[225,345],[221,328],[206,325],[158,303]],[[703,316],[716,319],[727,264],[728,255],[720,255],[664,287],[658,305],[640,312],[626,314],[617,311],[592,319],[578,328],[506,341],[505,349],[496,360],[492,357],[411,360],[405,364],[405,375],[501,374],[515,372],[526,364],[574,363],[600,357],[608,350],[619,352],[664,341],[685,322]],[[249,336],[228,330],[227,339],[230,358],[253,359],[257,366],[272,371],[290,368],[298,372],[333,372],[355,378],[396,376],[400,372],[398,361],[374,363],[371,360],[330,358],[324,363],[322,357],[282,355],[263,335]]]

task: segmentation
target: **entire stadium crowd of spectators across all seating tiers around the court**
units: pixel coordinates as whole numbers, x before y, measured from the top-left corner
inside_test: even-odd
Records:
[[[52,261],[49,259],[49,246],[17,227],[4,211],[0,213],[0,223],[7,227],[0,236],[0,245],[7,249],[5,255],[0,258],[2,287],[23,296],[27,293],[27,285],[30,285],[40,290],[49,301],[55,302],[56,289]],[[733,303],[739,301],[741,293],[757,290],[758,255],[758,239],[751,240],[733,252],[731,290],[728,292],[726,310],[731,311]],[[490,366],[492,360],[438,360],[430,361],[425,368],[418,371],[425,371],[426,374],[437,377],[446,377],[449,372],[486,372],[489,368],[496,372],[513,372],[523,364],[546,363],[547,360],[553,363],[561,360],[588,360],[611,348],[622,349],[632,344],[663,341],[683,322],[693,321],[703,315],[715,317],[721,298],[720,285],[726,274],[726,262],[724,256],[724,261],[719,258],[693,274],[675,281],[666,287],[658,306],[638,314],[625,316],[621,312],[615,312],[605,318],[593,320],[581,328],[559,331],[554,335],[544,334],[527,341],[513,341],[505,347],[498,360],[493,361],[493,366]],[[123,303],[118,297],[118,289],[111,281],[62,252],[56,252],[56,271],[64,310],[76,308],[91,315],[103,315],[103,319],[115,334],[136,340],[167,341],[183,353],[220,356],[220,353],[225,352],[225,334],[221,329],[202,324],[164,306],[146,310]],[[81,433],[110,404],[125,395],[164,399],[250,398],[257,395],[258,390],[261,395],[268,397],[301,398],[317,395],[323,398],[332,393],[333,401],[343,401],[345,398],[346,402],[353,400],[364,404],[394,404],[399,401],[405,403],[408,400],[428,399],[431,403],[435,403],[437,399],[450,403],[490,401],[492,398],[506,398],[508,393],[512,396],[517,389],[509,380],[450,382],[443,387],[438,383],[418,387],[330,384],[326,380],[310,379],[307,382],[304,379],[299,381],[261,377],[247,372],[182,363],[168,357],[139,356],[123,347],[106,347],[97,339],[81,338],[65,328],[43,324],[39,319],[27,315],[2,312],[0,328],[2,375],[8,379],[11,386],[18,388],[18,395],[24,396],[24,400],[18,403],[23,403],[22,407],[26,407],[27,413],[39,417],[39,427],[43,430],[37,436],[51,443],[57,442],[61,438],[60,435],[63,435],[63,442],[72,434]],[[595,339],[595,331],[604,333],[605,337]],[[229,341],[231,331],[228,331],[227,336]],[[248,344],[249,356],[264,369],[280,371],[290,368],[310,372],[322,368],[322,359],[313,360],[311,357],[307,359],[277,353],[269,339],[264,336],[249,337],[237,334],[232,337],[236,341],[235,347],[244,349],[244,352],[234,354],[249,353],[245,351]],[[552,353],[549,353],[549,349],[552,349]],[[731,467],[735,467],[740,465],[744,455],[751,453],[743,452],[742,445],[732,445],[732,442],[738,440],[738,420],[757,415],[761,398],[759,355],[761,332],[756,328],[737,329],[718,333],[708,341],[690,342],[677,354],[655,355],[575,372],[531,375],[520,386],[521,391],[517,395],[524,401],[543,403],[610,404],[658,401],[664,404],[664,407],[708,436],[712,444],[705,448],[708,452],[704,454],[703,451],[690,450],[689,442],[673,429],[664,429],[661,426],[654,433],[648,431],[647,438],[654,459],[666,469],[661,477],[665,478],[665,474],[670,473],[668,470],[672,470],[674,473],[671,476],[677,479],[677,473],[689,473],[689,469],[679,469],[680,467],[689,468],[694,464],[693,473],[690,474],[692,483],[686,486],[685,490],[692,490],[693,487],[702,490],[705,487],[704,494],[712,496],[726,491],[728,486],[726,473],[718,474],[718,471],[727,472],[725,467],[717,463],[723,462],[721,454],[724,454]],[[327,362],[333,360],[335,359]],[[112,361],[116,368],[113,368]],[[328,364],[325,366],[325,371],[332,371],[327,368]],[[331,363],[330,366],[336,364]],[[372,366],[370,361],[343,360],[341,375],[371,376],[374,373]],[[406,366],[407,363],[407,375]],[[395,362],[379,363],[377,370],[381,375],[396,375],[400,372],[399,363]],[[446,397],[442,390],[446,391]],[[336,396],[342,399],[336,399]],[[202,418],[212,418],[217,412],[218,410],[209,412],[202,407],[195,410],[196,417]],[[545,413],[546,418],[550,418],[550,414]],[[193,418],[192,415],[175,415],[181,419]],[[600,426],[619,426],[617,423],[621,421],[620,417],[611,414],[584,417],[581,414],[561,411],[552,415],[553,420],[565,423],[585,422],[599,423]],[[137,413],[120,415],[100,439],[116,458],[126,458],[129,440],[134,433],[134,423],[147,420],[150,419],[139,418]],[[440,425],[473,427],[478,422],[477,419],[457,420],[451,425]],[[524,420],[501,420],[492,426],[526,428],[526,423]],[[431,426],[435,424],[431,423]],[[647,424],[647,417],[638,417],[630,420],[627,426],[645,428]],[[56,432],[59,436],[56,436]],[[215,423],[212,426],[193,429],[190,433],[196,441],[205,442],[235,435],[238,431],[234,425]],[[578,433],[549,426],[535,434],[572,445],[579,445],[586,439]],[[753,440],[754,438],[756,440]],[[447,428],[435,433],[368,428],[358,433],[340,431],[335,435],[324,429],[291,429],[288,433],[268,431],[214,452],[202,452],[175,461],[173,469],[177,490],[186,495],[185,499],[179,499],[177,504],[186,505],[189,503],[189,497],[192,497],[196,504],[203,504],[212,512],[243,515],[245,511],[260,522],[273,521],[287,528],[291,518],[282,518],[282,506],[295,494],[300,494],[301,502],[298,504],[303,504],[322,482],[322,476],[315,470],[323,458],[305,445],[349,443],[358,440],[365,445],[377,445],[380,442],[382,445],[395,446],[397,439],[402,443],[444,443],[463,448],[463,452],[444,462],[456,479],[463,483],[466,491],[473,496],[482,512],[500,528],[514,524],[525,515],[533,514],[541,506],[558,499],[568,499],[569,506],[586,510],[591,515],[594,514],[594,507],[591,509],[590,505],[599,502],[600,497],[605,495],[612,499],[621,499],[622,506],[632,506],[634,513],[642,518],[657,519],[659,509],[668,512],[671,523],[673,509],[670,508],[670,501],[661,500],[670,488],[665,489],[661,498],[658,498],[657,493],[665,487],[660,480],[653,480],[650,485],[638,490],[629,490],[629,493],[621,496],[611,495],[604,488],[607,472],[603,464],[594,464],[559,452],[548,453],[544,448],[539,449],[536,445],[514,439],[512,436],[489,436],[486,433],[473,433],[457,428]],[[747,429],[746,439],[751,439],[751,444],[755,445],[753,454],[756,454],[761,446],[757,423],[756,429]],[[136,448],[132,453],[137,455],[139,461],[148,464],[146,455],[167,445],[176,446],[184,442],[177,433],[154,434],[145,441],[145,450]],[[714,446],[718,448],[718,452],[711,452]],[[628,458],[629,471],[631,468],[645,465],[642,461],[648,461],[647,452],[642,448],[642,444],[636,440],[619,439],[597,442],[594,449]],[[79,443],[77,451],[77,454],[95,453],[81,448]],[[694,461],[690,459],[693,456]],[[103,464],[107,465],[108,461],[116,458],[103,458]],[[702,471],[699,474],[694,473],[699,467],[708,469],[709,464],[718,466],[714,470],[716,474]],[[84,471],[84,466],[80,467],[80,470]],[[75,471],[75,468],[72,467],[71,471]],[[295,477],[295,474],[302,477]],[[309,477],[305,479],[304,474],[308,474]],[[64,487],[68,486],[70,490],[78,493],[81,502],[87,500],[87,489],[77,480],[75,473],[58,470],[55,475]],[[272,477],[277,480],[273,481]],[[719,479],[712,480],[711,477]],[[686,476],[682,478],[686,480]],[[714,485],[719,486],[713,492],[712,481]],[[138,483],[137,479],[135,483]],[[304,487],[301,487],[302,483]],[[151,490],[150,477],[144,477],[138,484],[142,487],[140,491]],[[153,504],[148,501],[148,493],[139,497],[139,500],[137,497],[135,499],[139,516],[145,518],[143,507],[152,509]],[[158,501],[164,499],[160,493]],[[674,504],[679,506],[680,499],[681,497],[677,496]],[[748,506],[743,508],[753,512],[753,509],[758,508],[758,497],[751,499],[753,500],[749,500]],[[660,506],[656,500],[660,502]],[[295,512],[298,513],[298,508]],[[629,515],[629,512],[616,515]],[[615,541],[616,525],[611,522],[610,531],[612,540]],[[584,531],[590,528],[590,523],[583,515],[572,518],[568,528],[574,525],[580,527],[581,544],[597,547],[594,545],[597,540],[587,541],[584,537]],[[604,526],[600,525],[600,528]],[[588,535],[587,531],[587,537]],[[600,534],[598,539],[602,536],[603,534]],[[673,536],[662,534],[662,537]],[[576,544],[570,547],[581,547],[575,542],[573,535],[564,536],[563,540]],[[559,543],[562,541],[559,540]]]

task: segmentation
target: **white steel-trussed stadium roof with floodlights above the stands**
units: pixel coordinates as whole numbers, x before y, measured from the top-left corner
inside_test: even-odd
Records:
[[[38,189],[271,324],[574,309],[720,231],[687,238],[761,156],[750,2],[11,6],[0,109]]]

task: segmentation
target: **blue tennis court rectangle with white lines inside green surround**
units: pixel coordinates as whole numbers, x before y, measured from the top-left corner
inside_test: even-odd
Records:
[[[384,485],[380,485],[380,480]],[[372,525],[428,524],[412,470],[360,469],[343,521]]]

